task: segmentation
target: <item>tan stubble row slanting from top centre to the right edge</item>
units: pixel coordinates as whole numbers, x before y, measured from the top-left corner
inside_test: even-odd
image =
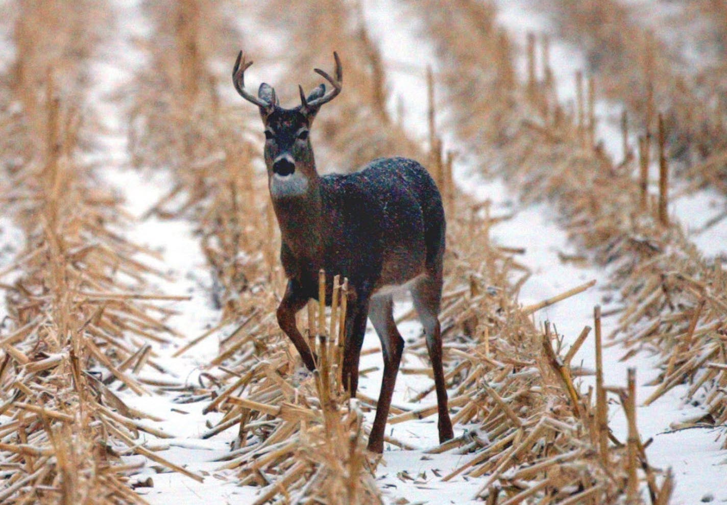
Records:
[[[651,391],[648,403],[682,384],[680,374],[688,371],[694,387],[681,391],[707,400],[699,417],[707,411],[710,416],[723,415],[722,403],[713,403],[723,379],[715,379],[713,368],[699,362],[705,353],[718,362],[723,359],[714,354],[720,352],[715,346],[720,345],[722,302],[712,298],[721,292],[722,272],[702,259],[678,225],[664,227],[640,210],[638,188],[624,177],[628,167],[614,166],[598,150],[588,133],[587,118],[585,128],[579,128],[577,118],[573,121],[553,100],[557,83],[550,71],[544,80],[525,80],[509,89],[499,86],[510,79],[510,73],[500,70],[505,66],[499,59],[506,44],[502,44],[502,28],[495,23],[494,12],[483,9],[485,19],[473,20],[472,6],[447,13],[434,3],[427,7],[417,12],[426,23],[424,33],[428,31],[435,40],[441,88],[446,89],[445,102],[459,138],[463,145],[476,146],[470,148],[473,153],[488,160],[482,163],[483,169],[507,174],[510,185],[526,201],[547,198],[556,203],[569,234],[590,249],[599,264],[608,266],[624,304],[617,324],[619,336],[634,350],[652,350],[662,356],[663,375],[657,378],[660,385]],[[456,35],[451,26],[459,27]],[[500,98],[492,100],[493,96]],[[494,134],[489,128],[493,117],[501,125]],[[646,249],[643,244],[648,244]],[[659,280],[649,281],[652,275]],[[654,282],[661,291],[651,287]],[[709,298],[705,307],[709,303],[712,307],[696,315],[704,298]],[[706,331],[689,336],[690,320]],[[683,342],[689,339],[692,354],[684,355]],[[664,376],[667,379],[662,382]],[[699,387],[707,387],[706,397]]]

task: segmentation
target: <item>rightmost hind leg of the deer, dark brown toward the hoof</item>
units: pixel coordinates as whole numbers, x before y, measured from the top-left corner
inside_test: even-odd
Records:
[[[425,275],[411,288],[411,299],[417,309],[419,320],[424,327],[427,339],[427,351],[432,362],[434,384],[437,390],[437,407],[439,411],[439,442],[443,443],[454,437],[452,423],[447,408],[447,389],[442,368],[442,335],[439,326],[439,305],[442,297],[441,276]]]

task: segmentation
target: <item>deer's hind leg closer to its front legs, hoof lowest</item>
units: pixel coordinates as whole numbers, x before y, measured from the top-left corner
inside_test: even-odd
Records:
[[[369,304],[369,319],[379,335],[384,355],[384,377],[381,381],[374,426],[371,427],[371,435],[369,435],[369,451],[374,453],[381,453],[384,450],[386,420],[389,416],[391,397],[401,363],[401,352],[404,348],[404,341],[394,322],[393,307],[394,302],[391,295],[373,296]]]

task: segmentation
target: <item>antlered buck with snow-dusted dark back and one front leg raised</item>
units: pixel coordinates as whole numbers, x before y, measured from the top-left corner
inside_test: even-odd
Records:
[[[450,440],[452,424],[442,367],[438,319],[443,284],[446,222],[442,198],[424,166],[408,158],[377,158],[351,174],[321,176],[316,169],[310,129],[318,111],[342,90],[342,65],[333,53],[332,77],[314,71],[332,87],[320,84],[300,105],[282,108],[275,89],[262,83],[257,96],[248,92],[244,73],[252,65],[239,52],[233,68],[238,94],[257,105],[265,133],[268,189],[281,233],[280,259],[285,294],[276,311],[278,325],[310,370],[316,357],[296,326],[295,316],[310,299],[318,300],[318,272],[348,278],[348,310],[342,382],[356,397],[358,363],[366,320],[381,341],[384,372],[368,450],[382,453],[384,432],[404,341],[393,318],[393,294],[408,289],[424,328],[432,363],[440,443]],[[326,279],[326,305],[332,282]]]

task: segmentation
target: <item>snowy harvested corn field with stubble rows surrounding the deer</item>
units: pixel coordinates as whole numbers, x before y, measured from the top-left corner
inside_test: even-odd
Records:
[[[721,2],[0,11],[1,504],[727,500]],[[382,454],[373,328],[356,397],[342,376],[356,286],[297,314],[315,371],[278,325],[240,50],[285,108],[340,55],[321,174],[403,156],[439,188],[451,440],[406,295]]]

